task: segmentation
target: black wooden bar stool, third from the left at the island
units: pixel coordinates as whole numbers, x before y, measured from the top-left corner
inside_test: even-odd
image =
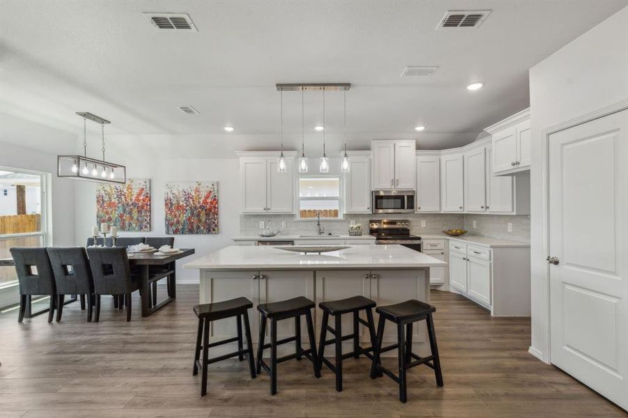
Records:
[[[323,364],[336,375],[336,390],[342,392],[342,360],[350,357],[358,358],[360,354],[364,354],[369,359],[373,359],[370,353],[375,346],[375,322],[373,320],[373,308],[376,307],[374,300],[370,300],[364,296],[353,296],[342,300],[330,300],[319,303],[319,308],[323,311],[323,321],[321,323],[321,339],[319,340],[319,367]],[[367,320],[360,318],[360,311],[365,311]],[[342,335],[342,314],[353,313],[353,334]],[[335,327],[328,325],[329,316],[335,317]],[[371,338],[371,346],[367,348],[360,347],[359,325],[362,324],[369,330]],[[330,332],[334,337],[326,339],[327,333]],[[351,353],[342,354],[342,341],[353,339],[353,351]],[[335,344],[335,364],[332,364],[325,358],[325,346]]]

